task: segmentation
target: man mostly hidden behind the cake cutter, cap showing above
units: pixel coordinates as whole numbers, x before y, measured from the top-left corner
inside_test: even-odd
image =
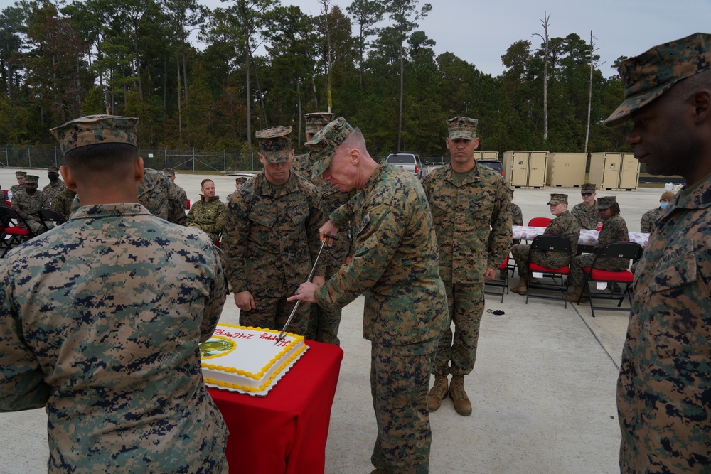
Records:
[[[315,112],[312,114],[304,114],[306,119],[306,139],[313,139],[314,135],[319,130],[323,129],[329,122],[333,120],[333,114],[329,112]],[[299,173],[307,180],[311,181],[321,191],[321,209],[324,215],[331,215],[331,212],[348,203],[355,196],[355,189],[341,192],[331,183],[326,183],[321,175],[313,174],[313,163],[324,157],[319,156],[319,152],[324,150],[316,149],[314,153],[307,153],[306,161],[301,163],[301,171]],[[296,156],[294,156],[296,160]],[[343,228],[341,237],[333,241],[333,246],[325,247],[321,258],[326,263],[326,279],[331,279],[331,276],[338,272],[346,262],[346,259],[353,254],[353,241],[351,239],[351,230],[347,226]],[[311,305],[311,330],[314,333],[314,339],[320,343],[328,343],[340,345],[341,340],[338,339],[338,328],[341,326],[341,308],[333,308],[328,310],[321,306]]]

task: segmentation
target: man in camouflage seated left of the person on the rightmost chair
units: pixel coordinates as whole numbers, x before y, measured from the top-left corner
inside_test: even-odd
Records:
[[[560,235],[565,237],[568,239],[568,242],[570,242],[571,253],[535,250],[533,254],[530,255],[530,262],[545,266],[546,268],[560,268],[561,266],[570,264],[572,256],[577,254],[577,242],[580,238],[580,223],[567,210],[567,194],[551,194],[548,204],[551,206],[551,212],[561,211],[564,209],[564,207],[561,206],[563,204],[565,204],[565,210],[555,215],[556,217],[547,225],[543,235]],[[557,208],[557,206],[561,207],[554,211],[554,207]],[[516,262],[518,262],[518,276],[521,277],[518,285],[511,289],[511,291],[525,295],[527,292],[526,284],[529,278],[526,262],[528,262],[529,259],[530,245],[514,245],[511,249],[511,253]]]

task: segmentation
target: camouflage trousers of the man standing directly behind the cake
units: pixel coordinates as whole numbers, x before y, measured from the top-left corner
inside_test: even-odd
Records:
[[[255,298],[255,306],[257,308],[250,311],[240,311],[240,325],[282,330],[284,323],[289,318],[289,314],[294,309],[295,301],[287,301],[287,298],[292,295],[267,296],[255,292],[252,293],[252,296]],[[304,303],[303,301],[299,304],[299,308],[287,328],[289,333],[313,339],[313,335],[309,334],[311,306],[311,303]]]

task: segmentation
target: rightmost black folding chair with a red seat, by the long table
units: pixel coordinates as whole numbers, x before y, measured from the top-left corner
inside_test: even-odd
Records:
[[[604,309],[606,311],[629,311],[632,307],[632,295],[629,291],[629,285],[634,280],[634,274],[632,274],[629,269],[621,271],[611,271],[599,269],[597,266],[601,263],[601,259],[609,258],[619,258],[619,259],[631,259],[636,262],[642,257],[642,246],[637,242],[610,242],[606,244],[595,256],[592,261],[591,266],[584,266],[582,271],[585,276],[585,284],[583,285],[583,290],[580,293],[580,298],[578,298],[578,304],[580,304],[580,299],[584,294],[590,300],[590,311],[592,311],[592,317],[595,317],[596,309]],[[607,291],[594,292],[590,291],[590,283],[600,283],[604,282],[607,284]],[[612,284],[623,283],[625,284],[625,289],[621,294],[615,294],[612,291]],[[629,308],[622,307],[622,301],[624,301],[625,296],[629,300]],[[593,300],[618,300],[617,306],[595,306]]]

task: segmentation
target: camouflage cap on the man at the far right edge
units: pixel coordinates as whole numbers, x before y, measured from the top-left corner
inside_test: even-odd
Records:
[[[711,69],[711,35],[694,33],[651,48],[620,63],[625,100],[607,117],[606,126],[626,122],[629,115],[652,102],[686,77]]]

